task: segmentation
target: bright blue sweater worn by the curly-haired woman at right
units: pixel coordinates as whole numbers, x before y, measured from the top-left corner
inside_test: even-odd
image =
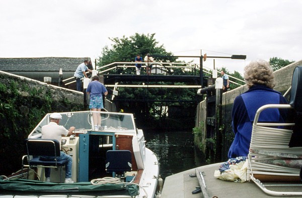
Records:
[[[254,85],[235,98],[232,110],[235,138],[229,150],[229,158],[248,156],[256,111],[266,104],[287,104],[287,101],[281,93],[263,85]],[[259,121],[284,122],[286,112],[285,109],[266,109],[260,114]]]

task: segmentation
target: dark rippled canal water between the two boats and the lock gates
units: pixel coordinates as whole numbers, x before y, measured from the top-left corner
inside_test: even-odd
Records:
[[[205,160],[194,148],[192,131],[143,131],[146,147],[158,156],[163,179],[206,165]]]

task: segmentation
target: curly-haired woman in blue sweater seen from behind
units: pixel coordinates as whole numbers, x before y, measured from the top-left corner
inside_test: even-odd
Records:
[[[253,121],[259,107],[266,104],[287,104],[281,93],[273,90],[274,76],[269,62],[250,62],[244,69],[244,79],[249,90],[234,100],[232,127],[235,138],[229,150],[229,158],[248,156]],[[259,121],[284,122],[285,116],[285,109],[266,109],[260,114]]]

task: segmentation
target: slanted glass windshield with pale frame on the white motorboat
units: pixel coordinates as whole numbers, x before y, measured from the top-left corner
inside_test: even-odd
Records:
[[[135,123],[133,114],[130,113],[116,113],[116,112],[103,112],[103,111],[81,111],[81,112],[64,112],[60,113],[62,119],[59,125],[64,126],[68,129],[70,126],[75,127],[75,133],[77,131],[85,133],[88,130],[107,130],[107,131],[135,131]],[[47,114],[40,123],[34,128],[29,138],[40,138],[42,126],[50,122],[49,116],[51,113]],[[101,117],[101,127],[96,129],[94,125],[94,117]],[[96,120],[96,119],[95,119]]]

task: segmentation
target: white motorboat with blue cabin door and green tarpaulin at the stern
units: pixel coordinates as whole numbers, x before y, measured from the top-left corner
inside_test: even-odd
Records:
[[[133,114],[106,111],[62,112],[59,125],[74,126],[70,137],[62,137],[60,149],[72,157],[74,183],[63,183],[64,166],[51,167],[45,181],[45,164],[31,164],[40,156],[30,155],[31,144],[43,141],[41,127],[50,122],[50,113],[28,136],[22,169],[0,179],[0,197],[155,197],[162,179],[158,158],[145,146],[143,131],[137,129]],[[94,116],[101,117],[95,127]],[[48,140],[45,140],[48,141]],[[46,145],[43,144],[43,145]],[[32,149],[35,155],[52,149]],[[38,153],[36,153],[38,152]],[[49,166],[50,167],[50,166]]]

